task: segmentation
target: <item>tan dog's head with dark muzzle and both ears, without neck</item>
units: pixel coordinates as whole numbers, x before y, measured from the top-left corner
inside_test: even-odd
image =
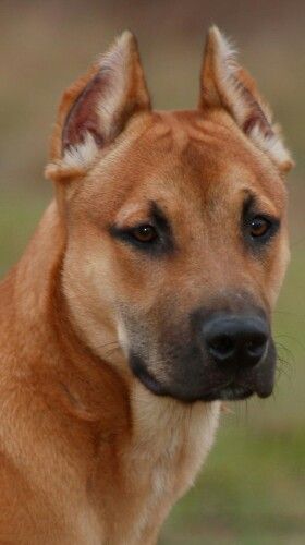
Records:
[[[272,391],[291,161],[268,116],[215,28],[198,110],[151,111],[126,33],[64,96],[47,173],[68,304],[91,349],[119,339],[156,395]]]

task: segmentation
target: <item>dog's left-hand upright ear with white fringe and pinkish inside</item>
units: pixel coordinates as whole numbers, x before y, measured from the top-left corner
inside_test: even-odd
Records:
[[[99,149],[114,141],[132,116],[150,109],[137,43],[125,31],[64,93],[46,177],[58,181],[84,174]]]

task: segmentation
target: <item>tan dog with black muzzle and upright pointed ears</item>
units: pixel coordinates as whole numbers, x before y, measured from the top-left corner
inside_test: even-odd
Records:
[[[292,167],[230,43],[154,111],[124,32],[64,93],[56,198],[0,288],[0,542],[155,544],[223,400],[269,396]]]

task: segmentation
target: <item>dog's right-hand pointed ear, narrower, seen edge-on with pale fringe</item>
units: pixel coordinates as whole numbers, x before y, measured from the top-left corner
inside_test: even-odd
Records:
[[[293,166],[280,130],[272,123],[269,107],[254,80],[237,64],[234,49],[215,26],[206,43],[199,108],[224,108],[281,171],[289,171]]]

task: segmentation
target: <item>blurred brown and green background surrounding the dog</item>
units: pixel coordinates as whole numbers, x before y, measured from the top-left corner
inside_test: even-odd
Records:
[[[42,171],[62,90],[127,27],[155,107],[193,107],[212,23],[233,37],[293,152],[292,262],[274,312],[274,395],[229,405],[196,486],[159,543],[305,544],[305,2],[1,0],[0,276],[51,198]]]

